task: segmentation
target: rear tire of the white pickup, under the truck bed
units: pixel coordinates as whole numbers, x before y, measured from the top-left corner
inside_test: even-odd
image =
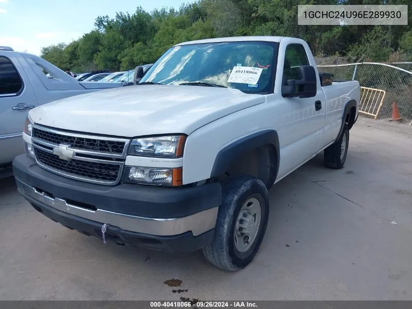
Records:
[[[326,167],[341,169],[346,161],[349,146],[349,127],[344,124],[339,139],[323,152],[323,160]]]

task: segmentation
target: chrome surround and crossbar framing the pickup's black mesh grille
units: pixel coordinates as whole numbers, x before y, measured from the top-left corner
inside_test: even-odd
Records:
[[[43,130],[51,133],[56,133],[59,135],[66,135],[66,136],[71,136],[71,137],[80,137],[80,138],[86,138],[86,139],[93,139],[93,140],[104,140],[104,141],[115,141],[115,142],[123,142],[124,143],[124,149],[121,154],[116,154],[116,153],[108,153],[108,152],[98,152],[98,151],[90,151],[90,150],[84,150],[84,149],[78,149],[74,147],[68,147],[67,149],[73,150],[75,152],[74,157],[72,160],[77,160],[77,161],[84,161],[84,162],[94,162],[97,164],[109,164],[109,165],[118,165],[119,166],[119,171],[118,171],[118,177],[116,181],[104,181],[104,180],[98,180],[98,179],[91,179],[91,178],[86,178],[82,176],[78,176],[75,174],[70,174],[67,172],[62,172],[60,170],[57,170],[55,168],[52,168],[50,166],[44,165],[39,161],[38,157],[38,152],[36,149],[42,150],[44,152],[47,152],[49,154],[53,154],[53,148],[56,146],[59,146],[59,144],[54,144],[50,142],[46,142],[37,138],[32,137],[32,146],[35,148],[35,157],[36,157],[36,162],[39,166],[42,168],[53,172],[55,174],[58,174],[63,177],[71,178],[74,180],[79,180],[79,181],[84,181],[88,183],[94,183],[94,184],[99,184],[99,185],[117,185],[123,175],[124,167],[125,167],[125,159],[127,155],[127,150],[129,148],[130,140],[128,139],[121,139],[121,138],[111,138],[111,137],[101,137],[101,136],[95,136],[95,135],[87,135],[87,134],[76,134],[72,132],[65,132],[63,130],[57,130],[57,129],[50,129],[46,128],[43,126],[39,126],[38,124],[33,124],[33,128],[36,128],[38,130]],[[51,148],[51,149],[50,149]],[[81,155],[90,155],[94,157],[101,157],[101,159],[97,158],[87,158],[83,156],[78,156],[78,154]],[[55,155],[55,154],[53,154]],[[57,156],[57,155],[56,155]]]

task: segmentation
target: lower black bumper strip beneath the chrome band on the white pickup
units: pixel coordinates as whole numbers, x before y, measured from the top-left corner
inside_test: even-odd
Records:
[[[60,223],[64,227],[75,229],[87,236],[95,236],[102,239],[102,223],[62,212],[53,207],[39,203],[31,197],[25,198],[41,214]],[[211,229],[196,237],[193,236],[192,232],[174,236],[154,236],[131,232],[109,225],[106,229],[105,238],[108,241],[114,241],[118,245],[125,245],[128,247],[147,247],[152,250],[166,252],[193,252],[209,245],[213,240],[214,234],[215,229]]]

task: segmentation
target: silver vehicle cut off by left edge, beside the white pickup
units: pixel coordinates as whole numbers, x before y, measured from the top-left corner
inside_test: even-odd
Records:
[[[11,167],[14,157],[24,152],[21,130],[29,109],[81,93],[120,86],[123,84],[78,82],[38,56],[0,46],[0,178],[8,176],[6,168]]]

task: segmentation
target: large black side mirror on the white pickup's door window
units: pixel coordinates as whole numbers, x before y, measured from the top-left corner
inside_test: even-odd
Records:
[[[316,72],[311,65],[299,66],[297,80],[282,81],[283,97],[312,98],[316,95],[317,78]]]

